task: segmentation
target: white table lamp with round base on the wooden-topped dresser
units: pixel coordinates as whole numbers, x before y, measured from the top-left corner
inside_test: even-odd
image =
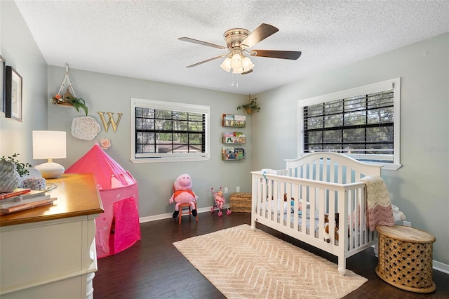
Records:
[[[33,159],[48,159],[46,163],[36,165],[42,178],[58,178],[64,173],[64,166],[53,162],[53,159],[67,157],[65,132],[33,131]]]

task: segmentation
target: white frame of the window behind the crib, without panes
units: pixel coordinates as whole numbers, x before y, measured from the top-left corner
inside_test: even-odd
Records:
[[[382,164],[382,169],[386,170],[397,170],[401,167],[401,78],[390,79],[386,81],[377,82],[375,84],[368,84],[365,86],[359,86],[356,88],[350,88],[344,91],[337,91],[335,93],[328,93],[326,95],[319,95],[313,98],[307,98],[304,100],[297,101],[297,113],[298,113],[298,157],[304,156],[307,154],[304,152],[304,107],[309,105],[322,104],[323,102],[331,102],[334,100],[342,100],[346,98],[352,98],[359,95],[366,95],[370,93],[378,93],[381,91],[387,91],[393,89],[393,102],[394,102],[394,140],[393,140],[393,155],[372,155],[373,159],[384,160],[379,162],[368,162],[373,164]],[[366,159],[365,154],[345,154],[348,157],[352,157],[354,159]],[[387,163],[387,161],[391,161],[392,163]]]

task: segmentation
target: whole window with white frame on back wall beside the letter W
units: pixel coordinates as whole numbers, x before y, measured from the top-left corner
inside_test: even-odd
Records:
[[[210,107],[131,99],[131,161],[210,159]]]

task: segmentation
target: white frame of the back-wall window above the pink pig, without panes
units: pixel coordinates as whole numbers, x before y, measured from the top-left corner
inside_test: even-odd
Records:
[[[131,152],[130,161],[133,163],[159,163],[159,162],[183,162],[183,161],[206,161],[210,159],[210,106],[186,104],[182,102],[164,102],[160,100],[145,100],[131,98],[130,137]],[[165,109],[180,112],[192,112],[204,114],[205,117],[205,152],[201,153],[170,153],[165,157],[161,154],[136,154],[135,153],[135,107]],[[138,157],[140,156],[140,157]]]

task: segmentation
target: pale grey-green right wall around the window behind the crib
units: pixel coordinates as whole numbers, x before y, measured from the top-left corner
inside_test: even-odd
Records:
[[[306,59],[306,56],[301,59]],[[449,34],[257,95],[253,168],[297,157],[297,101],[401,77],[401,164],[382,171],[391,201],[413,227],[434,234],[434,259],[449,264]]]

